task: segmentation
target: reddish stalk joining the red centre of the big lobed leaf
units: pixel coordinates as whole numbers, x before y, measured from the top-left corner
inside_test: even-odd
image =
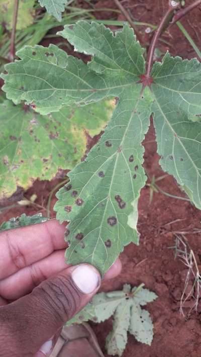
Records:
[[[179,6],[179,3],[177,5],[177,7]],[[153,56],[154,56],[154,51],[156,48],[156,43],[158,41],[158,38],[160,36],[160,34],[162,33],[167,21],[169,20],[169,18],[171,17],[171,15],[173,15],[173,12],[175,10],[176,7],[171,7],[169,5],[168,10],[166,11],[164,17],[161,20],[160,25],[158,26],[157,30],[154,33],[154,36],[152,38],[151,41],[151,45],[149,47],[149,51],[148,51],[148,55],[147,55],[147,71],[146,71],[146,77],[149,78],[150,77],[150,73],[151,73],[151,68],[152,68],[152,63],[153,63]]]

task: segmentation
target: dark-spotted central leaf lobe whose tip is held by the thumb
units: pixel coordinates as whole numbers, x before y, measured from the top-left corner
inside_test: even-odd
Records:
[[[57,219],[70,221],[66,260],[91,263],[102,274],[124,245],[138,243],[137,204],[146,182],[140,143],[150,115],[140,91],[139,86],[122,94],[105,134],[57,194]]]

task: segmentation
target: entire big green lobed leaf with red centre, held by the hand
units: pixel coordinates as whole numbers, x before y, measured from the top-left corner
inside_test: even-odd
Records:
[[[89,262],[104,274],[124,245],[138,243],[137,205],[146,181],[141,142],[151,113],[161,166],[201,208],[201,124],[192,121],[201,114],[201,65],[167,53],[147,83],[143,49],[128,25],[113,34],[78,21],[59,35],[91,61],[85,64],[54,45],[25,47],[18,52],[21,60],[6,65],[3,88],[7,98],[33,104],[43,115],[116,97],[105,134],[70,172],[55,206],[57,218],[70,222],[68,262]]]

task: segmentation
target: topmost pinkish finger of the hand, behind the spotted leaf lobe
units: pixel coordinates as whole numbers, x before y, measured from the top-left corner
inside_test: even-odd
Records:
[[[0,279],[67,247],[65,225],[55,219],[0,233]]]

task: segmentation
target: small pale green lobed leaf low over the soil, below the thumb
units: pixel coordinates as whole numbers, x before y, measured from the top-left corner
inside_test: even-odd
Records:
[[[113,329],[106,339],[108,354],[122,355],[129,331],[139,342],[151,344],[153,339],[153,324],[149,312],[141,308],[154,301],[157,295],[143,288],[128,284],[124,285],[123,291],[96,294],[92,301],[73,319],[67,322],[81,323],[92,320],[102,322],[113,315]]]

